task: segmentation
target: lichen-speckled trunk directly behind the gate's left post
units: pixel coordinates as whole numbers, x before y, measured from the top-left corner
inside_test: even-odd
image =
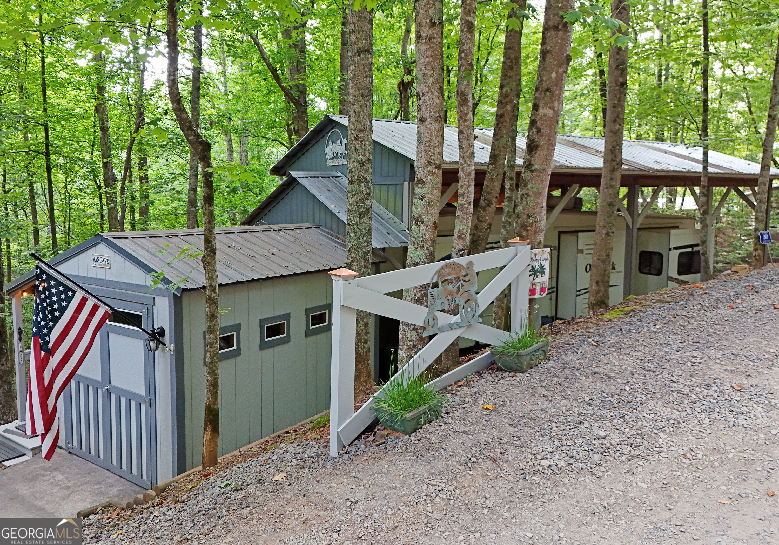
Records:
[[[373,219],[373,12],[349,7],[349,164],[346,262],[371,274]],[[354,395],[372,388],[371,314],[357,312]]]

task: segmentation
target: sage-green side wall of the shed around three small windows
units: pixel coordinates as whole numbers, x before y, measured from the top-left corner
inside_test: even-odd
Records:
[[[305,309],[333,300],[327,272],[220,286],[220,326],[241,324],[241,354],[220,362],[219,455],[283,430],[330,406],[330,332],[305,336]],[[200,463],[206,388],[205,297],[182,294],[186,467]],[[259,350],[259,320],[290,313],[291,341]],[[177,351],[178,346],[176,347]]]

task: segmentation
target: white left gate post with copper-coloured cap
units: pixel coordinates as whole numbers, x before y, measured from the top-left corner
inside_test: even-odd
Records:
[[[333,277],[333,341],[330,361],[330,455],[337,456],[344,442],[338,428],[354,414],[354,345],[356,343],[357,311],[344,307],[344,282],[353,280],[357,272],[337,269]]]

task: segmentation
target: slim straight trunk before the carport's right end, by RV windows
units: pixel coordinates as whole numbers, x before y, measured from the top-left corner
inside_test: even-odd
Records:
[[[703,142],[703,161],[700,166],[700,276],[703,280],[710,280],[711,273],[709,256],[709,224],[714,218],[711,216],[711,188],[709,187],[709,5],[707,0],[702,0],[703,23],[703,69],[701,77],[701,100],[703,102],[700,116],[700,139]]]

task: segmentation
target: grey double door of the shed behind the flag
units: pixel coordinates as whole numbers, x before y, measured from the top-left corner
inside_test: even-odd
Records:
[[[109,300],[152,326],[148,304]],[[153,356],[139,329],[107,322],[65,389],[69,452],[147,489],[157,483]]]

